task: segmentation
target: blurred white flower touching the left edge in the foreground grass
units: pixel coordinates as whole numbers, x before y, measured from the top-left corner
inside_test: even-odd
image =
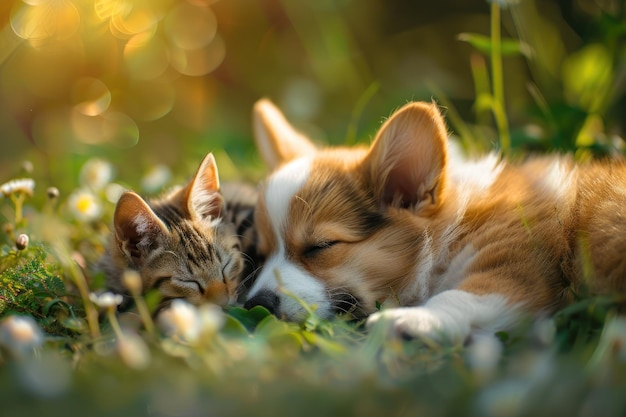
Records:
[[[0,346],[24,356],[43,345],[44,334],[30,316],[9,316],[0,322]]]

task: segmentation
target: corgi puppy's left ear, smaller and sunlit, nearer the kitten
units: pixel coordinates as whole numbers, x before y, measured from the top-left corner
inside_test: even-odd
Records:
[[[298,133],[269,100],[256,102],[252,111],[254,138],[263,162],[274,170],[300,156],[312,155],[316,147]]]

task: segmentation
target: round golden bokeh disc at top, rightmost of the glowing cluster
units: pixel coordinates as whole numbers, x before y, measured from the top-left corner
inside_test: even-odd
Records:
[[[180,4],[165,19],[165,33],[181,49],[207,46],[217,33],[217,18],[211,9]]]

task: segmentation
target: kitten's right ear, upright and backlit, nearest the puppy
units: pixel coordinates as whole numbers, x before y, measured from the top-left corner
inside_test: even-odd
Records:
[[[224,200],[220,194],[217,164],[212,153],[204,157],[196,174],[182,190],[181,197],[189,218],[220,216]]]

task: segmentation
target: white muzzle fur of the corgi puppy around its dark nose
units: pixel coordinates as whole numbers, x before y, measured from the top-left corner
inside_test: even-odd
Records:
[[[281,286],[287,291],[281,291]],[[278,296],[280,301],[276,315],[279,317],[294,321],[303,320],[305,310],[298,299],[315,307],[320,317],[332,316],[332,304],[326,296],[324,285],[289,262],[282,248],[264,265],[263,272],[256,279],[248,297],[253,297],[261,290],[271,291]]]

